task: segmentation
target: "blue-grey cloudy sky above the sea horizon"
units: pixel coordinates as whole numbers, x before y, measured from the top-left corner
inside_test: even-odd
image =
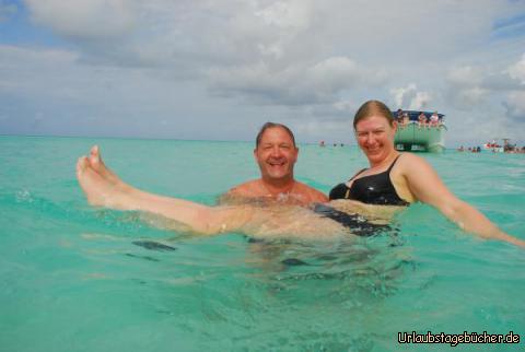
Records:
[[[353,142],[370,98],[525,144],[525,1],[0,0],[0,133]]]

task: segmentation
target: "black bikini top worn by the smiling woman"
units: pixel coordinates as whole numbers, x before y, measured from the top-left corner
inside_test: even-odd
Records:
[[[347,184],[339,184],[330,190],[330,200],[335,199],[352,199],[359,200],[368,204],[380,206],[408,206],[410,204],[406,200],[401,199],[397,195],[396,189],[390,180],[390,171],[396,164],[399,156],[394,160],[387,171],[363,176],[353,180],[352,186],[348,187]],[[355,174],[350,180],[354,179],[364,169]]]

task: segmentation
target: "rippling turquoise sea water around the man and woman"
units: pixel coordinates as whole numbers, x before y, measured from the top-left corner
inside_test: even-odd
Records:
[[[1,137],[1,351],[451,349],[397,343],[413,330],[512,330],[520,345],[456,349],[524,347],[523,249],[462,233],[421,204],[397,232],[353,244],[182,236],[86,204],[74,163],[93,143],[132,185],[208,204],[258,175],[252,143]],[[525,238],[525,155],[423,156]],[[364,166],[355,148],[303,145],[296,176],[327,192]]]

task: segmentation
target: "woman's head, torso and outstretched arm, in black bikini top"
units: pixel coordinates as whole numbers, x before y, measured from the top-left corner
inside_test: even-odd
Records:
[[[330,200],[351,199],[366,204],[401,207],[420,201],[436,208],[466,232],[525,245],[524,240],[505,234],[475,208],[454,196],[424,159],[396,151],[394,137],[397,122],[384,103],[364,103],[355,113],[353,128],[370,167],[334,187]]]

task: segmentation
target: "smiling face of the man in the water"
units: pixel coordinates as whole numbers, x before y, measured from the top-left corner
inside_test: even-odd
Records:
[[[254,156],[260,168],[262,179],[285,180],[293,178],[293,165],[298,161],[299,150],[292,138],[280,127],[268,128],[254,150]]]

